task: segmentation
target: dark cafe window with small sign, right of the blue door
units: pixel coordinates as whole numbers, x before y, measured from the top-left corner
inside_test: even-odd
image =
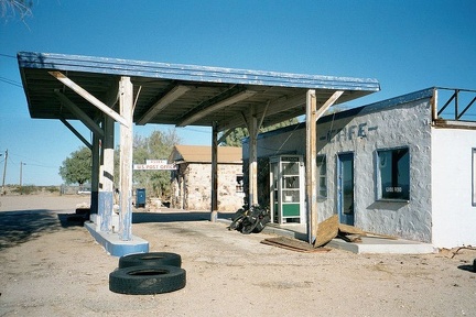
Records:
[[[378,198],[410,200],[410,154],[408,149],[377,151]]]

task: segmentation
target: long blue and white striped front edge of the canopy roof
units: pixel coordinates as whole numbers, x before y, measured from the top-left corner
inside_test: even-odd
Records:
[[[372,78],[247,70],[83,55],[19,52],[18,62],[20,68],[86,72],[131,77],[307,89],[380,90],[379,81]]]

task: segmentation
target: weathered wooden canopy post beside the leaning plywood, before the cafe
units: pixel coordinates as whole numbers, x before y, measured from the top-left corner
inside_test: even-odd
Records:
[[[315,90],[307,90],[306,96],[306,209],[307,209],[307,241],[313,244],[317,237],[317,192],[316,188],[316,96]]]

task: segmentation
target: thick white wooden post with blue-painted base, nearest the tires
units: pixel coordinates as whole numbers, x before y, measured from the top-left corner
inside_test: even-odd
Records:
[[[120,214],[119,238],[132,238],[132,114],[133,87],[130,77],[121,77],[119,109],[126,124],[120,125]]]

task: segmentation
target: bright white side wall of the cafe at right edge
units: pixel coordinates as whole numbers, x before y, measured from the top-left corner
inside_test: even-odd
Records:
[[[474,130],[432,131],[433,241],[439,248],[476,245],[472,205]]]

